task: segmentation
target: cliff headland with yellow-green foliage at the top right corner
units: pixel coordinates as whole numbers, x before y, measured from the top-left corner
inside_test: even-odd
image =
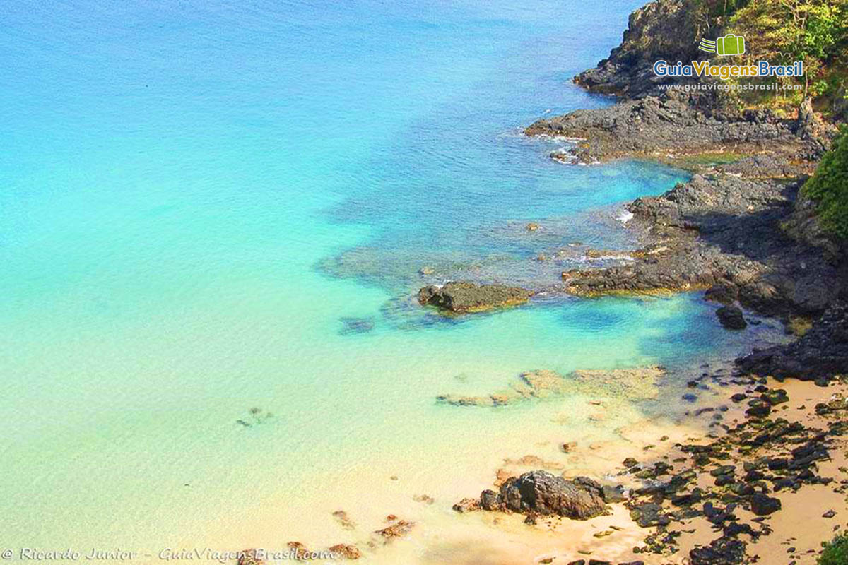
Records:
[[[722,57],[699,49],[703,40],[745,37],[745,53]],[[817,111],[848,116],[848,0],[655,0],[630,14],[622,43],[575,82],[592,91],[639,97],[656,93],[657,60],[711,59],[714,64],[774,65],[803,61],[802,77],[710,79],[728,110],[771,108],[790,117],[809,96]],[[686,80],[678,80],[685,82]],[[740,89],[724,89],[737,83]],[[775,87],[777,85],[777,87]],[[791,86],[791,87],[789,87]]]

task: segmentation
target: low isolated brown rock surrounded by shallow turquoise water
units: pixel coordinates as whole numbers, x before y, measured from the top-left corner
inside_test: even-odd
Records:
[[[527,302],[530,296],[530,291],[518,286],[455,281],[442,286],[425,286],[418,291],[418,302],[450,313],[468,313],[516,306]]]

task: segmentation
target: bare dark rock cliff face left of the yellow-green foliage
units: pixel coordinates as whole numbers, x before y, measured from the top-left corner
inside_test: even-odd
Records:
[[[652,71],[658,59],[669,62],[708,58],[698,50],[701,34],[717,22],[695,0],[657,0],[630,14],[621,45],[594,69],[585,70],[574,82],[589,91],[641,97],[656,93],[659,79]]]

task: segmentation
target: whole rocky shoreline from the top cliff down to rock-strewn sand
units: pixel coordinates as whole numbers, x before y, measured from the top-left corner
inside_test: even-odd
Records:
[[[778,119],[767,111],[728,111],[715,98],[658,91],[645,64],[658,54],[691,50],[689,42],[669,46],[651,39],[663,26],[692,24],[683,21],[685,10],[673,4],[650,3],[634,12],[622,45],[596,69],[575,78],[589,90],[622,96],[616,105],[540,119],[525,133],[566,138],[570,147],[551,154],[563,163],[647,158],[689,169],[693,176],[659,197],[626,206],[632,214],[628,229],[639,234],[641,245],[611,254],[627,261],[603,269],[570,269],[561,274],[561,285],[544,281],[539,286],[577,296],[704,291],[707,300],[721,305],[717,316],[728,330],[745,328],[742,308],[747,308],[782,319],[799,339],[737,359],[728,377],[711,375],[734,391],[727,399],[734,408],[703,409],[715,429],[708,442],[677,444],[663,457],[642,463],[628,458],[610,469],[620,482],[540,468],[499,476],[498,490],[483,490],[455,504],[457,512],[520,513],[528,524],[545,520],[551,528],[562,518],[595,518],[622,504],[633,523],[650,529],[633,547],[639,559],[583,559],[572,552],[578,558],[562,554],[544,563],[638,565],[683,554],[691,565],[732,565],[757,562],[762,547],[767,547],[762,550],[766,562],[778,562],[762,540],[778,529],[771,524],[786,511],[785,493],[825,488],[826,500],[845,508],[848,481],[826,476],[822,469],[828,462],[833,471],[834,458],[844,459],[834,451],[845,446],[841,438],[848,429],[841,383],[848,371],[848,246],[823,233],[812,202],[800,196],[835,129],[808,100],[795,119]],[[428,297],[439,292],[422,289],[421,304],[444,307],[444,300]],[[527,290],[527,297],[532,294]],[[509,306],[503,300],[487,302],[483,293],[477,296],[477,310]],[[814,407],[795,403],[789,413],[789,395],[773,380],[785,378],[814,380],[821,387],[819,402]],[[827,387],[840,391],[831,395]],[[550,389],[547,381],[545,388]],[[533,386],[528,390],[532,393]],[[513,397],[522,394],[439,400],[498,406]],[[726,424],[726,413],[734,409],[737,418]],[[801,512],[798,499],[789,500],[789,512]],[[837,513],[830,509],[820,519]],[[839,529],[837,524],[834,530]],[[795,540],[791,529],[780,529],[778,535],[787,537],[784,544]],[[815,554],[815,549],[801,553],[789,546],[783,557],[795,565],[812,563]]]

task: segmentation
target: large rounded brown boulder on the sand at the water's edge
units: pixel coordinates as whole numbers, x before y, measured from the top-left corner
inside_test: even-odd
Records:
[[[607,512],[601,486],[594,481],[568,480],[547,471],[531,471],[506,479],[500,492],[483,490],[480,507],[543,516],[556,514],[586,520]]]

